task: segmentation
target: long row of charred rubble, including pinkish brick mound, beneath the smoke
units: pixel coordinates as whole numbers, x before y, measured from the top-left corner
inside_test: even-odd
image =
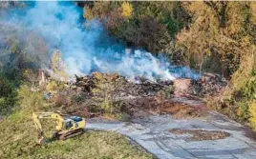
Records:
[[[67,85],[70,89],[92,93],[96,88],[96,74],[76,76],[75,81]],[[144,78],[137,78],[136,82],[131,82],[118,74],[104,74],[105,81],[118,85],[117,93],[120,96],[156,96],[160,90],[173,88],[174,96],[198,96],[204,97],[216,95],[224,89],[227,81],[216,73],[203,73],[202,77],[193,81],[189,78],[178,78],[173,81],[150,81]]]

